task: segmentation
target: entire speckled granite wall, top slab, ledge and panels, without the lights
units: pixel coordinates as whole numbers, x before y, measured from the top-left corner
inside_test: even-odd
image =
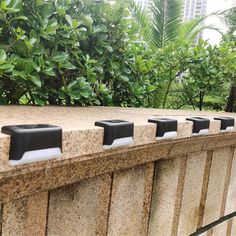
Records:
[[[0,126],[50,123],[63,129],[62,159],[16,167],[8,164],[10,138],[0,134],[0,232],[187,236],[235,212],[236,132],[220,133],[220,122],[213,121],[220,115],[234,117],[131,108],[0,107]],[[156,141],[156,126],[147,119],[158,116],[178,119],[177,139]],[[190,116],[209,117],[209,135],[191,137],[192,123],[185,120]],[[103,129],[94,126],[101,119],[133,121],[134,144],[104,150]],[[232,218],[209,235],[235,235],[235,225]]]

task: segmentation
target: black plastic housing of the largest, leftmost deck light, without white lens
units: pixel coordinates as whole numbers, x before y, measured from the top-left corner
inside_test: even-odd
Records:
[[[20,160],[27,151],[59,147],[62,129],[47,124],[3,126],[2,133],[11,136],[10,160]]]

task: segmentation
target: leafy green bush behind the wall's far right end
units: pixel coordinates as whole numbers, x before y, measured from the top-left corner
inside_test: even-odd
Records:
[[[183,87],[178,93],[185,94],[193,108],[197,100],[199,109],[202,110],[206,95],[226,102],[227,91],[236,73],[234,45],[233,41],[224,41],[219,46],[212,46],[201,40],[192,48],[187,59],[188,69],[182,78]]]

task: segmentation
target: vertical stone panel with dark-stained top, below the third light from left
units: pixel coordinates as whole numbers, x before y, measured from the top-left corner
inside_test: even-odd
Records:
[[[185,158],[156,162],[149,235],[171,235],[176,218],[176,194]]]

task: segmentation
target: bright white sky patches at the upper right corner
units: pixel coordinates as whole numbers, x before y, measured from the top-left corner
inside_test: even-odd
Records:
[[[207,1],[207,14],[217,11],[223,11],[236,4],[236,0],[208,0]],[[211,16],[206,20],[206,24],[213,24],[217,28],[226,32],[226,27],[224,25],[223,19],[216,16]],[[221,39],[221,35],[214,30],[205,30],[203,34],[205,40],[209,40],[212,44],[218,44]]]

